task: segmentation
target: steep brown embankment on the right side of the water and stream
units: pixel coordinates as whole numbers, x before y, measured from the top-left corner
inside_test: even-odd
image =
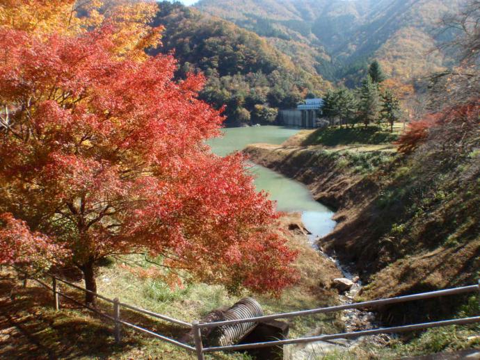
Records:
[[[401,156],[388,145],[305,146],[306,135],[281,147],[253,145],[245,152],[256,163],[305,183],[317,200],[337,209],[339,224],[320,245],[355,265],[368,284],[362,297],[477,281],[480,152],[455,159],[436,151]],[[384,320],[442,316],[462,302],[391,307]]]

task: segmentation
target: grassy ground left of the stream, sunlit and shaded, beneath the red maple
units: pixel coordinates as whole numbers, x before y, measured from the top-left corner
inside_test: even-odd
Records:
[[[305,236],[291,235],[291,247],[301,256],[295,266],[301,272],[301,281],[287,289],[280,298],[258,296],[244,291],[230,295],[223,286],[187,284],[184,288],[170,288],[161,280],[143,278],[142,272],[131,271],[127,265],[134,261],[141,269],[153,266],[141,256],[125,256],[108,261],[99,268],[98,292],[121,302],[162,313],[179,320],[199,320],[220,306],[231,306],[241,297],[253,295],[264,313],[279,313],[330,306],[337,302],[335,291],[326,284],[339,274],[330,261],[323,259],[307,244]],[[132,265],[133,267],[133,265]],[[122,329],[122,344],[115,345],[113,324],[95,313],[61,300],[61,310],[52,309],[49,291],[29,281],[26,288],[13,279],[10,272],[0,272],[0,359],[195,359],[194,355],[155,338],[143,336],[134,330]],[[47,279],[48,281],[48,279]],[[81,281],[78,283],[83,286]],[[83,294],[66,286],[61,291],[82,301]],[[15,294],[15,302],[10,299]],[[99,309],[111,314],[112,306],[99,300]],[[181,339],[186,329],[161,320],[121,310],[126,321],[151,329],[175,339]],[[309,332],[335,333],[342,323],[335,316],[307,316],[289,320],[291,336],[305,336]],[[242,354],[214,354],[207,359],[246,359]]]

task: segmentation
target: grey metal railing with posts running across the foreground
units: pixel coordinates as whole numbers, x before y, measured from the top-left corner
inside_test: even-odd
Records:
[[[250,343],[250,344],[243,344],[243,345],[230,345],[230,346],[217,346],[217,347],[203,347],[203,342],[202,342],[202,335],[201,335],[201,330],[206,329],[206,328],[212,328],[212,327],[221,327],[221,326],[227,326],[227,325],[235,325],[235,324],[240,324],[243,322],[260,322],[260,321],[266,321],[266,320],[276,320],[276,319],[285,319],[285,318],[295,318],[298,316],[308,316],[308,315],[314,315],[318,313],[332,313],[336,311],[342,311],[342,310],[348,310],[348,309],[368,309],[372,308],[375,306],[383,306],[383,305],[388,305],[388,304],[398,304],[402,302],[410,302],[410,301],[415,301],[415,300],[426,300],[426,299],[432,299],[435,297],[442,297],[442,296],[447,296],[447,295],[460,295],[460,294],[466,294],[466,293],[475,293],[477,292],[479,294],[479,307],[480,307],[480,281],[478,285],[472,285],[472,286],[463,286],[460,288],[451,288],[447,290],[440,290],[440,291],[431,291],[429,293],[420,293],[420,294],[415,294],[415,295],[405,295],[405,296],[399,296],[399,297],[392,297],[390,299],[383,299],[383,300],[373,300],[373,301],[367,301],[367,302],[358,302],[355,304],[344,304],[344,305],[339,305],[339,306],[330,306],[330,307],[325,307],[325,308],[320,308],[320,309],[311,309],[311,310],[305,310],[305,311],[295,311],[291,313],[279,313],[275,315],[269,315],[269,316],[259,316],[257,318],[246,318],[246,319],[241,319],[241,320],[227,320],[227,321],[219,321],[219,322],[199,322],[199,321],[194,321],[192,324],[189,322],[184,322],[182,320],[177,320],[175,318],[170,318],[169,316],[161,315],[159,313],[154,313],[152,311],[148,311],[145,309],[138,308],[136,306],[131,306],[129,304],[124,304],[118,300],[118,298],[115,298],[114,300],[109,299],[108,297],[104,297],[102,295],[99,295],[97,293],[94,293],[93,291],[88,291],[86,288],[82,288],[80,286],[77,286],[75,284],[72,284],[68,281],[65,281],[63,279],[60,279],[54,275],[49,275],[52,279],[52,286],[49,286],[48,284],[45,284],[43,281],[39,279],[33,279],[37,281],[39,284],[42,286],[45,286],[46,288],[49,288],[49,290],[53,291],[54,293],[54,307],[56,310],[60,309],[60,302],[59,302],[59,295],[62,297],[67,298],[68,300],[74,302],[75,304],[79,304],[80,306],[85,307],[86,309],[89,309],[91,311],[94,311],[95,313],[98,313],[100,316],[103,316],[104,318],[108,318],[109,320],[112,320],[115,323],[115,328],[114,328],[114,335],[115,335],[115,341],[117,343],[120,343],[121,341],[121,328],[122,325],[126,327],[131,327],[132,329],[135,329],[138,332],[142,332],[144,334],[154,336],[155,338],[159,338],[162,341],[166,341],[167,343],[173,344],[177,347],[181,347],[182,349],[189,350],[191,352],[195,352],[197,355],[198,360],[204,360],[205,359],[205,353],[209,352],[223,352],[223,351],[232,351],[232,350],[248,350],[248,349],[254,349],[254,348],[261,348],[261,347],[273,347],[273,346],[278,346],[278,345],[291,345],[291,344],[300,344],[300,343],[314,343],[318,341],[331,341],[335,340],[338,338],[358,338],[360,336],[371,336],[371,335],[377,335],[377,334],[396,334],[396,333],[401,333],[401,332],[414,332],[417,330],[423,330],[423,329],[431,329],[433,327],[445,327],[449,325],[470,325],[470,324],[475,324],[475,323],[480,323],[480,316],[475,316],[472,318],[461,318],[461,319],[454,319],[454,320],[443,320],[443,321],[437,321],[437,322],[425,322],[422,324],[415,324],[415,325],[405,325],[405,326],[399,326],[399,327],[386,327],[386,328],[381,328],[381,329],[370,329],[370,330],[364,330],[364,331],[359,331],[359,332],[347,332],[347,333],[340,333],[340,334],[325,334],[321,336],[310,336],[307,338],[294,338],[294,339],[287,339],[287,340],[278,340],[278,341],[268,341],[268,342],[263,342],[263,343]],[[109,316],[106,313],[102,313],[98,309],[95,309],[91,306],[87,306],[85,304],[82,304],[81,302],[75,300],[74,298],[70,297],[69,295],[65,295],[58,289],[58,282],[61,282],[65,285],[71,286],[72,288],[76,288],[77,290],[86,292],[86,293],[92,293],[95,295],[95,297],[99,297],[99,299],[102,299],[106,302],[109,302],[113,304],[113,316]],[[152,332],[148,329],[144,329],[143,327],[140,327],[135,324],[131,324],[130,322],[127,322],[125,320],[122,320],[120,318],[120,309],[121,308],[126,308],[131,311],[135,311],[138,313],[143,313],[147,316],[152,316],[154,318],[158,318],[160,320],[164,320],[166,322],[173,323],[175,325],[181,325],[183,327],[187,327],[193,330],[193,338],[195,340],[195,347],[188,345],[186,343],[181,343],[179,341],[176,341],[173,338],[168,338],[167,336],[163,336],[161,334],[157,334],[155,332]]]

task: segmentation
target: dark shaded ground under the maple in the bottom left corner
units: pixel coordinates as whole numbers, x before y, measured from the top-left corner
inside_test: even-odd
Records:
[[[122,344],[115,345],[110,320],[68,300],[63,300],[61,311],[54,311],[52,304],[51,292],[33,281],[23,287],[8,275],[0,277],[0,359],[116,359],[141,346],[138,332],[124,329]],[[108,303],[99,304],[99,309],[111,313]],[[132,311],[122,311],[122,318],[173,338],[185,333]]]

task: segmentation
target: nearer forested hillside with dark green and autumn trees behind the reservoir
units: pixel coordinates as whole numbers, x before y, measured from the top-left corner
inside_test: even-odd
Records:
[[[259,35],[180,3],[159,3],[154,25],[165,27],[163,46],[155,51],[174,51],[179,78],[188,72],[207,76],[200,96],[217,108],[226,105],[227,124],[271,122],[278,108],[294,107],[330,86]]]

